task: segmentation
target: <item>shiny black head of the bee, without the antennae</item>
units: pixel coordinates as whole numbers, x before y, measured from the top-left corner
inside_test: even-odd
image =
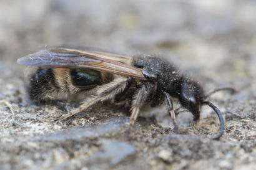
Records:
[[[194,115],[194,120],[199,120],[202,97],[204,93],[198,83],[185,80],[180,88],[180,103]]]

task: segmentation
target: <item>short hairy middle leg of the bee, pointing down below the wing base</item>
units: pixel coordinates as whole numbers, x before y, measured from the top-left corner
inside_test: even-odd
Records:
[[[139,115],[139,110],[141,106],[145,104],[145,100],[147,99],[149,95],[149,92],[147,92],[147,87],[145,85],[142,85],[139,92],[135,95],[134,100],[132,101],[132,115],[130,115],[130,123],[129,127],[131,128],[135,120],[137,119],[137,116]]]

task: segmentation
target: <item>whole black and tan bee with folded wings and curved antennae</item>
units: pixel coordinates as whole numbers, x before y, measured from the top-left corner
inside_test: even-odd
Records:
[[[129,57],[97,50],[49,49],[41,50],[17,60],[18,64],[39,68],[32,75],[29,85],[30,98],[36,102],[49,102],[82,96],[81,105],[58,120],[86,110],[90,106],[114,100],[130,108],[132,126],[144,105],[159,106],[165,102],[175,129],[178,128],[172,98],[178,98],[181,106],[199,120],[202,105],[210,106],[219,116],[220,131],[224,133],[224,120],[220,110],[205,101],[220,88],[204,94],[199,83],[186,77],[165,59],[142,56]]]

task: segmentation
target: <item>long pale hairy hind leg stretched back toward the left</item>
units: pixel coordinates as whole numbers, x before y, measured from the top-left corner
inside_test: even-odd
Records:
[[[105,100],[111,99],[116,94],[121,93],[126,88],[127,80],[128,78],[126,77],[120,77],[116,78],[112,82],[99,86],[95,95],[91,95],[91,97],[87,98],[84,102],[82,102],[82,105],[80,105],[78,108],[71,110],[69,113],[62,115],[56,120],[66,120],[67,118],[86,110],[87,108],[89,108],[89,106],[92,106],[97,102],[104,102]]]

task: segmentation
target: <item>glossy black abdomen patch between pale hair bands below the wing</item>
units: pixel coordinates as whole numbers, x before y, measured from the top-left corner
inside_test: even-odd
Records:
[[[71,70],[71,78],[74,86],[101,85],[101,73],[96,70],[76,68]]]

